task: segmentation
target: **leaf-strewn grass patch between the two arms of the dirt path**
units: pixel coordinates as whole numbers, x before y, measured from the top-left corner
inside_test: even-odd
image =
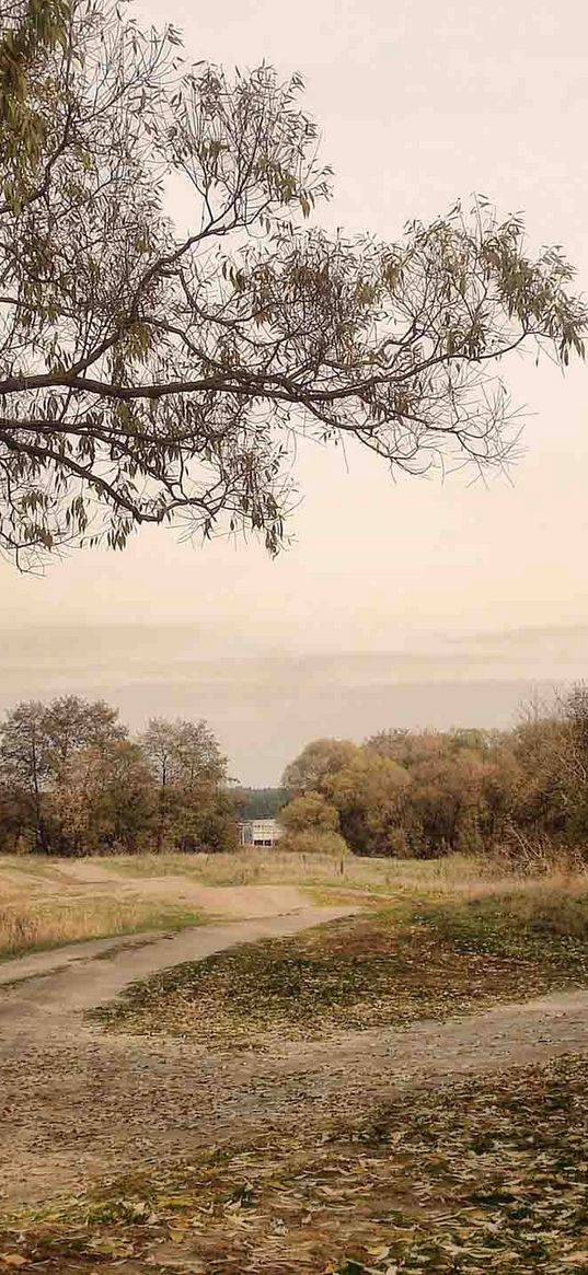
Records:
[[[446,1019],[588,982],[588,891],[399,899],[165,970],[92,1011],[221,1049]]]

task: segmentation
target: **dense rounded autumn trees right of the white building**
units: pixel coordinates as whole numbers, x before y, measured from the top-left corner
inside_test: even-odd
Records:
[[[464,852],[536,861],[588,843],[588,686],[528,705],[509,731],[315,740],[287,766],[286,844],[362,856]],[[309,840],[310,834],[310,840]]]

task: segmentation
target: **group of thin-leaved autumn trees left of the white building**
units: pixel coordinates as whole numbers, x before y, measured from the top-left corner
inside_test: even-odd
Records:
[[[236,844],[227,759],[205,722],[153,718],[131,738],[103,700],[66,695],[18,704],[0,724],[3,853]]]

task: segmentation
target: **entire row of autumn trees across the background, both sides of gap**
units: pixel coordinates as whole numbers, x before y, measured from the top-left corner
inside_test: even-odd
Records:
[[[230,779],[210,727],[75,695],[18,704],[0,723],[0,853],[231,852],[237,820],[278,816],[304,852],[585,857],[588,686],[532,704],[510,731],[386,729],[314,740],[282,788]]]

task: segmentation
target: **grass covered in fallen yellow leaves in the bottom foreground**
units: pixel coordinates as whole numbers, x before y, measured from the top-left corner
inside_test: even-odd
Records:
[[[574,1275],[588,1262],[588,1060],[398,1093],[0,1219],[28,1275]]]

